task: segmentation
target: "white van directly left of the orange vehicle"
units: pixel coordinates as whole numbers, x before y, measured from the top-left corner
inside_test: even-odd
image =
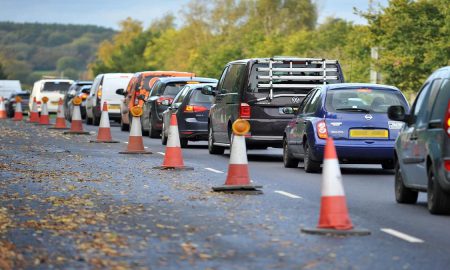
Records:
[[[123,96],[117,89],[125,89],[133,73],[105,73],[95,77],[91,93],[86,99],[86,124],[99,125],[103,102],[108,104],[109,119],[120,121],[120,104]]]

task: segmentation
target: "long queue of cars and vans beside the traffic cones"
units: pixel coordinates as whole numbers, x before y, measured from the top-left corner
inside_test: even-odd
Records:
[[[307,173],[320,171],[326,139],[333,138],[340,163],[394,169],[398,203],[415,203],[419,192],[427,192],[431,213],[450,214],[450,67],[426,80],[411,110],[396,87],[345,83],[337,60],[296,57],[232,61],[219,80],[178,71],[99,74],[93,82],[40,80],[29,99],[27,92],[6,99],[9,116],[15,95],[29,103],[48,96],[50,112],[65,95],[68,120],[70,101],[79,96],[83,118],[94,125],[107,102],[122,131],[129,130],[130,109],[139,106],[143,134],[162,145],[174,114],[181,147],[203,140],[213,155],[230,147],[232,123],[247,119],[248,149],[282,148],[284,166],[303,161]]]

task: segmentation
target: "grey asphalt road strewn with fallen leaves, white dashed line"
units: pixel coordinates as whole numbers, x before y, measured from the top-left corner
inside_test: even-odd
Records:
[[[95,133],[97,127],[84,126]],[[229,155],[205,142],[183,149],[193,171],[160,171],[153,155],[119,155],[118,144],[62,135],[29,123],[0,122],[0,250],[24,268],[142,269],[445,269],[450,219],[395,202],[392,171],[342,165],[350,217],[370,236],[304,234],[317,225],[320,174],[282,165],[280,149],[248,151],[263,194],[211,192],[226,178]],[[3,208],[2,208],[3,207]],[[3,216],[2,216],[3,215]],[[2,219],[0,219],[1,222]],[[6,225],[5,225],[6,224]],[[8,248],[9,247],[9,248]],[[1,252],[0,252],[1,253]],[[6,267],[4,267],[6,268]]]

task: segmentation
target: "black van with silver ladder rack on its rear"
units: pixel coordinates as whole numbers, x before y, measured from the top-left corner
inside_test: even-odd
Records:
[[[210,154],[229,147],[231,124],[247,119],[247,148],[282,147],[283,131],[308,92],[321,84],[342,83],[336,60],[274,57],[228,63],[219,79],[208,120]]]

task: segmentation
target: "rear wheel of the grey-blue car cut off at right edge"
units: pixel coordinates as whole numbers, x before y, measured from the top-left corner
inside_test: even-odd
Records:
[[[431,214],[450,214],[450,194],[445,193],[436,179],[433,165],[428,168],[428,211]]]

